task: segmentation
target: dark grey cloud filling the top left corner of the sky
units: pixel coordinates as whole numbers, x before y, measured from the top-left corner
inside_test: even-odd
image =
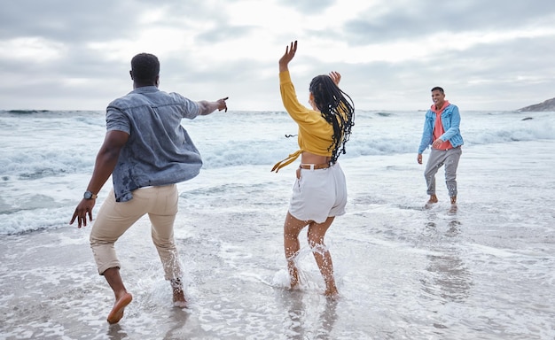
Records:
[[[59,42],[78,44],[103,39],[133,39],[147,25],[142,14],[165,10],[168,18],[158,26],[186,26],[198,19],[214,19],[217,8],[207,7],[201,0],[164,1],[97,0],[71,1],[18,0],[2,4],[0,39],[21,36],[43,36]]]

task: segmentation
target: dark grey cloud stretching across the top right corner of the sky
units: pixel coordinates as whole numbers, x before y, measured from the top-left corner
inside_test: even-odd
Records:
[[[418,1],[387,3],[387,12],[371,10],[345,23],[344,34],[354,45],[411,39],[437,32],[479,32],[551,22],[555,2]]]

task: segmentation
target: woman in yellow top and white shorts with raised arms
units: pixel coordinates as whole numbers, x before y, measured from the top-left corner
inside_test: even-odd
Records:
[[[295,258],[300,251],[299,234],[309,226],[309,246],[324,277],[325,296],[338,298],[330,251],[325,232],[335,216],[345,213],[347,184],[337,158],[345,153],[345,143],[354,125],[355,108],[350,97],[338,87],[340,73],[317,75],[310,82],[311,109],[297,100],[288,64],[297,51],[297,42],[285,48],[279,59],[279,88],[285,110],[299,126],[300,150],[278,162],[278,171],[301,156],[301,166],[293,185],[293,196],[284,224],[284,248],[291,288],[299,285]]]

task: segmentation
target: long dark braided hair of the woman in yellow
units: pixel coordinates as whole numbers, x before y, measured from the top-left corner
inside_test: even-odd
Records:
[[[355,125],[355,104],[326,74],[314,77],[310,81],[309,91],[314,96],[314,104],[324,120],[332,124],[332,145],[328,151],[332,150],[330,163],[335,163],[340,154],[346,153],[345,143],[348,142],[351,128]]]

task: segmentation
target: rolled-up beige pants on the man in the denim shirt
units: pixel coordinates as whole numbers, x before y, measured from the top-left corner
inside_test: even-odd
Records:
[[[133,199],[128,202],[115,202],[113,190],[110,191],[90,230],[90,248],[97,262],[98,274],[104,274],[109,268],[121,267],[114,243],[148,213],[152,223],[152,242],[160,255],[166,280],[181,277],[174,242],[177,198],[175,184],[134,190]]]

